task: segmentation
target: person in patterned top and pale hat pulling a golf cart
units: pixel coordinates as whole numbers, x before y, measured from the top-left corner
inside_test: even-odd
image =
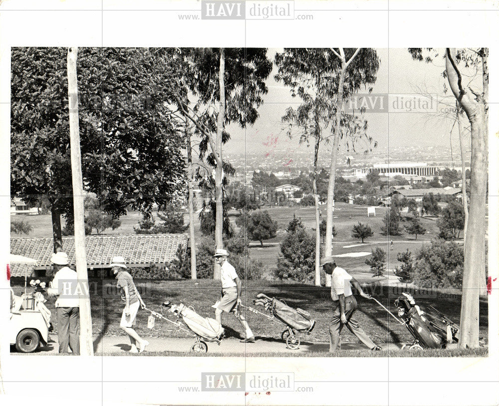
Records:
[[[123,257],[114,257],[110,265],[113,273],[118,279],[117,287],[120,289],[121,300],[125,302],[125,308],[121,315],[120,327],[128,334],[132,348],[131,353],[141,353],[149,345],[147,340],[140,338],[133,329],[136,324],[137,311],[139,305],[146,307],[140,293],[133,282],[132,275],[126,271],[125,259]]]

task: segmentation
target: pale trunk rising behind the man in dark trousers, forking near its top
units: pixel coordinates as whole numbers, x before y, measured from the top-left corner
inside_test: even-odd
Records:
[[[327,185],[326,204],[326,237],[325,257],[333,254],[333,211],[334,211],[334,182],[336,181],[336,161],[338,159],[338,146],[340,141],[341,113],[343,110],[343,84],[345,82],[345,62],[341,61],[341,71],[338,82],[338,101],[336,103],[336,122],[334,127],[333,147],[331,150],[331,165],[329,167],[329,183]],[[326,273],[326,286],[331,286],[331,275]]]

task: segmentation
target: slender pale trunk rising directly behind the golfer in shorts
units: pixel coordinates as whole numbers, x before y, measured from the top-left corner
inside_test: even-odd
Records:
[[[224,230],[224,207],[223,207],[223,190],[222,190],[222,173],[223,173],[223,157],[222,157],[222,135],[224,132],[225,121],[225,54],[224,48],[220,48],[220,70],[219,70],[219,87],[220,87],[220,107],[217,119],[217,167],[215,168],[215,248],[224,248],[223,230]],[[213,278],[220,279],[220,266],[215,264]]]

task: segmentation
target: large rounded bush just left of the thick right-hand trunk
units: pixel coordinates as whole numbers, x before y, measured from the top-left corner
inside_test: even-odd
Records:
[[[421,287],[462,287],[463,248],[452,241],[424,244],[414,263],[413,280]]]

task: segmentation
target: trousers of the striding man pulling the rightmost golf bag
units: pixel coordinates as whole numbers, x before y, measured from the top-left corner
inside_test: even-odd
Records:
[[[338,348],[338,344],[340,342],[340,333],[341,329],[345,325],[353,334],[355,334],[360,341],[362,341],[367,347],[374,348],[376,344],[372,342],[372,340],[367,336],[362,327],[360,327],[359,322],[354,316],[355,310],[357,309],[357,300],[353,295],[345,297],[345,316],[347,319],[347,323],[343,324],[340,319],[340,304],[339,301],[334,302],[336,308],[333,312],[333,319],[331,320],[331,324],[329,325],[329,335],[330,335],[330,344],[329,351],[334,352]]]

